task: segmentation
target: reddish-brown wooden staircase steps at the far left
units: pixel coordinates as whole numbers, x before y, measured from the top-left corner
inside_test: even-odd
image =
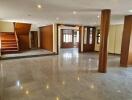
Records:
[[[14,53],[19,51],[18,39],[15,33],[0,33],[1,53]]]

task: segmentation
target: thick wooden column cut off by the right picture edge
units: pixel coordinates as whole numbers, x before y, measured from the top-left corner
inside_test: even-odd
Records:
[[[132,15],[125,16],[120,66],[132,64]]]

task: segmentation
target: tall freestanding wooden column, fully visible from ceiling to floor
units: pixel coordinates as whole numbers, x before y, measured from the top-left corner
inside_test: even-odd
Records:
[[[98,71],[101,73],[106,73],[107,70],[107,41],[110,26],[110,15],[110,9],[104,9],[101,12],[101,43],[98,68]]]

